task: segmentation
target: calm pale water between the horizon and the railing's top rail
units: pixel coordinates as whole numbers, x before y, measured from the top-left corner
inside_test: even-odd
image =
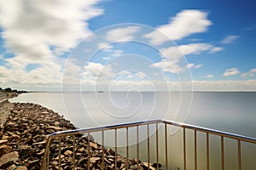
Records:
[[[190,94],[189,99],[190,99]],[[184,98],[186,96],[183,96]],[[256,138],[256,93],[205,93],[181,99],[179,93],[21,94],[12,102],[44,105],[78,127],[95,127],[156,118],[175,119]],[[181,108],[184,102],[185,109]],[[168,108],[169,106],[169,108]],[[178,117],[180,115],[180,117]]]

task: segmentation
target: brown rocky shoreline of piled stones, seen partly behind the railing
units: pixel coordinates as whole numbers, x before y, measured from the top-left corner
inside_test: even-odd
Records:
[[[31,103],[3,103],[0,105],[0,169],[26,170],[40,169],[44,156],[45,145],[50,133],[76,127],[55,111],[41,105]],[[90,160],[88,160],[88,139],[84,135],[74,137],[75,169],[100,169],[102,153],[104,169],[114,169],[116,153],[90,137]],[[50,147],[51,159],[49,169],[58,169],[59,140],[53,141]],[[103,150],[103,151],[102,151]],[[72,169],[73,138],[61,139],[61,169]],[[128,161],[127,161],[128,160]],[[127,164],[128,162],[128,164]],[[117,154],[117,169],[148,169],[148,163],[138,162],[137,159],[126,159]],[[149,169],[154,169],[149,165]]]

